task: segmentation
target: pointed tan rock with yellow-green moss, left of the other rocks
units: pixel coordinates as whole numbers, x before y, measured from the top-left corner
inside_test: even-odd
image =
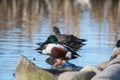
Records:
[[[15,76],[16,80],[55,80],[53,74],[37,67],[24,56],[20,56]]]

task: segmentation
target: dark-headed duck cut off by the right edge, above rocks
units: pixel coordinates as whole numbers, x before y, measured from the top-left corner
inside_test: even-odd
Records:
[[[110,58],[110,61],[116,58],[118,55],[120,55],[120,40],[117,41],[116,47],[112,52],[112,56]]]

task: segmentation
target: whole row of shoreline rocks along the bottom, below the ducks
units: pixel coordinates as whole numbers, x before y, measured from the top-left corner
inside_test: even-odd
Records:
[[[15,76],[16,80],[120,80],[120,56],[97,66],[80,69],[43,69],[25,56],[20,56]]]

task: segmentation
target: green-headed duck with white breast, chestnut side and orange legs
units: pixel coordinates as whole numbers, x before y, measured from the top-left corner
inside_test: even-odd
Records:
[[[42,46],[36,49],[41,54],[50,55],[54,60],[55,66],[62,64],[63,60],[68,62],[68,60],[70,59],[75,59],[80,57],[80,55],[78,55],[68,46],[57,42],[58,40],[54,42],[55,40],[57,40],[56,36],[50,35],[46,40],[46,42],[43,43]],[[57,61],[57,59],[59,59],[59,61]]]

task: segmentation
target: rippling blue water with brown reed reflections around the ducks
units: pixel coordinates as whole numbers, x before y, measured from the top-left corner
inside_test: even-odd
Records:
[[[71,63],[87,66],[108,60],[120,38],[120,1],[91,0],[81,5],[78,2],[0,0],[0,80],[15,80],[13,73],[20,55],[39,67],[50,68],[45,63],[48,56],[34,49],[38,47],[36,43],[53,34],[54,25],[62,33],[88,40],[77,51],[82,57]]]

